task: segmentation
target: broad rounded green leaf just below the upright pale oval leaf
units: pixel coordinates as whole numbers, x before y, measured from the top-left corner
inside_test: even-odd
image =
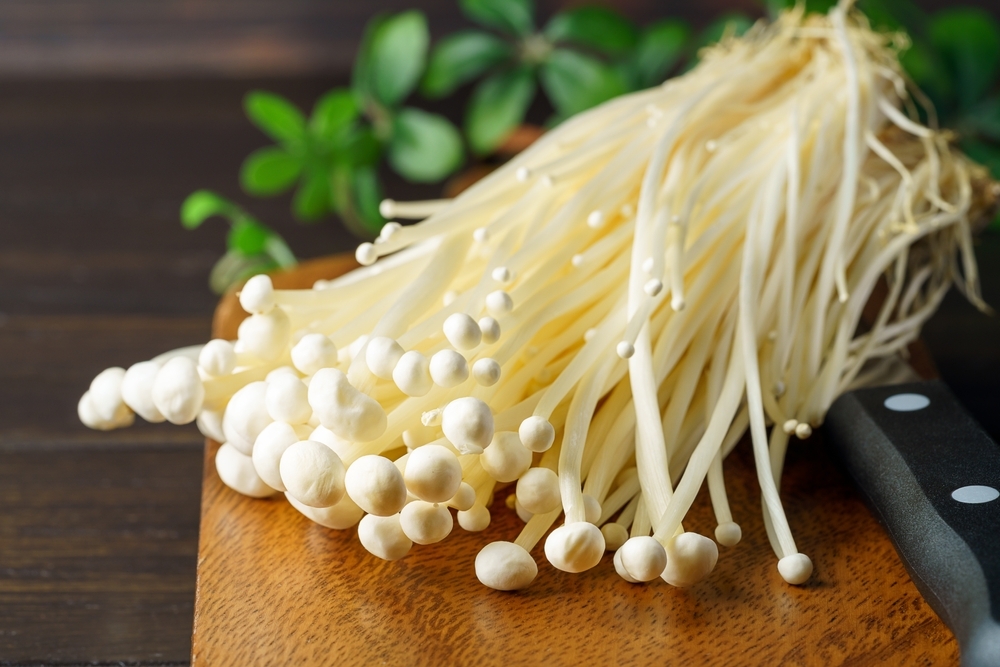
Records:
[[[411,181],[439,181],[462,164],[461,135],[444,116],[407,107],[396,116],[389,163]]]

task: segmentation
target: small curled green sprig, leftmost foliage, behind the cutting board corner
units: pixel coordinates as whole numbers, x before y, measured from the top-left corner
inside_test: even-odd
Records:
[[[225,197],[210,190],[197,190],[181,205],[181,224],[186,229],[196,229],[214,216],[229,221],[230,226],[226,254],[209,275],[212,291],[221,294],[250,276],[295,266],[295,255],[277,232]]]

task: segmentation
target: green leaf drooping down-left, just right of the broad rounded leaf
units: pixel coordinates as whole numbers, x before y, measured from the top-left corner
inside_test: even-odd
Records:
[[[535,97],[531,68],[494,74],[476,86],[465,114],[465,134],[476,155],[487,155],[517,127]]]

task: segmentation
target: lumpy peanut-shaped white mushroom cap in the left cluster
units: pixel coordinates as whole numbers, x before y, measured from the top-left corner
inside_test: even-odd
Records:
[[[309,383],[309,405],[319,422],[350,442],[370,442],[385,433],[385,410],[351,386],[336,368],[324,368]]]

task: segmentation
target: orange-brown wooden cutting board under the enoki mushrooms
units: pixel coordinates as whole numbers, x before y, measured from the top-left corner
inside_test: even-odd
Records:
[[[353,266],[302,265],[275,284],[308,287]],[[215,335],[243,317],[230,295]],[[748,442],[725,472],[743,541],[690,589],[635,586],[611,556],[583,574],[541,553],[519,593],[482,586],[473,568],[488,542],[521,522],[497,494],[483,533],[457,524],[443,543],[401,561],[370,555],[353,530],[312,523],[280,496],[253,500],[225,487],[208,441],[192,663],[222,665],[954,665],[958,646],[910,581],[892,544],[833,463],[821,434],[793,441],[782,497],[799,549],[816,569],[803,587],[776,569],[760,514]],[[685,527],[712,535],[708,495]]]

